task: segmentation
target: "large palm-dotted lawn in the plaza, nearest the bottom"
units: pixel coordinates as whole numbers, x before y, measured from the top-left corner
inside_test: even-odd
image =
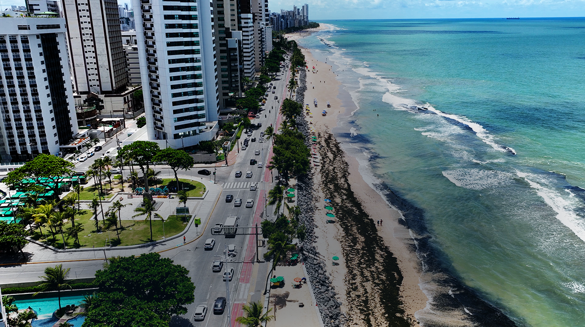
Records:
[[[95,232],[95,220],[91,219],[93,216],[93,212],[91,210],[82,210],[80,215],[75,217],[75,225],[82,224],[84,226],[84,230],[79,234],[79,241],[81,243],[81,247],[102,247],[102,246],[109,246],[110,241],[112,246],[127,246],[127,245],[137,245],[142,243],[150,242],[150,225],[149,221],[144,221],[141,217],[137,217],[136,221],[125,221],[122,220],[123,228],[118,229],[118,233],[120,234],[120,240],[118,241],[118,236],[116,235],[116,229],[111,228],[109,230],[104,230],[101,233]],[[91,220],[90,220],[91,219]],[[98,225],[102,226],[102,216],[101,214],[98,215]],[[65,228],[71,226],[71,223],[66,223]],[[164,235],[166,236],[173,236],[177,235],[178,233],[182,232],[185,229],[185,223],[183,222],[183,217],[177,216],[169,216],[168,219],[164,222]],[[57,247],[59,249],[63,249],[63,237],[60,233],[56,234],[55,237],[50,235],[49,229],[43,227],[43,232],[48,235],[48,240],[50,245]],[[152,219],[152,234],[154,240],[161,240],[163,239],[163,222],[160,220]],[[45,235],[41,234],[38,229],[32,233],[33,239],[45,241]],[[68,237],[64,233],[65,242],[68,248],[77,247],[74,245],[74,238]],[[109,240],[111,237],[111,240]]]

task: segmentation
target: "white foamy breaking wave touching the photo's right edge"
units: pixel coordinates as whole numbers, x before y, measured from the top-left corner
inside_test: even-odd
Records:
[[[567,226],[573,233],[585,242],[585,228],[579,225],[579,216],[574,214],[567,206],[570,206],[569,202],[560,196],[555,196],[555,191],[549,190],[542,185],[529,180],[528,174],[517,171],[518,177],[524,178],[524,180],[530,185],[531,188],[536,190],[541,198],[544,199],[545,203],[550,206],[556,213],[556,219],[558,219],[563,225]]]

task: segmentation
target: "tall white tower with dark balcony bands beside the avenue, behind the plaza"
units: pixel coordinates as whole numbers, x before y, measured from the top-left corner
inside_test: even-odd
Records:
[[[211,3],[133,0],[132,6],[148,139],[174,148],[213,139],[219,93]]]

